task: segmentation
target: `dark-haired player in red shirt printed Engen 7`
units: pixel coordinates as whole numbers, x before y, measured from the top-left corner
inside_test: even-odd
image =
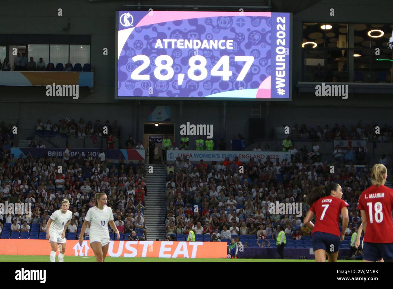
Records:
[[[330,183],[327,186],[319,186],[307,196],[307,204],[310,210],[304,219],[304,225],[312,230],[311,241],[314,248],[315,261],[325,262],[326,253],[329,262],[337,262],[338,247],[344,240],[349,216],[349,204],[342,200],[342,188],[339,184]],[[338,222],[340,214],[343,215],[342,232]],[[315,225],[311,223],[315,219]]]

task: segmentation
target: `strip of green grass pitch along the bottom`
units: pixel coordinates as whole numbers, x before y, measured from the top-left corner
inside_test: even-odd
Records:
[[[0,262],[49,262],[49,256],[0,255]],[[95,257],[65,256],[64,262],[95,262]],[[315,262],[315,260],[107,257],[105,262]],[[338,260],[338,262],[361,262],[361,260]]]

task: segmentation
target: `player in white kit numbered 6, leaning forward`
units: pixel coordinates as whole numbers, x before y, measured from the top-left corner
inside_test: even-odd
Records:
[[[59,245],[59,262],[64,262],[64,253],[66,252],[65,232],[70,224],[72,212],[68,210],[70,202],[63,200],[61,209],[53,212],[46,225],[46,239],[49,240],[51,251],[50,261],[55,262],[57,245]]]

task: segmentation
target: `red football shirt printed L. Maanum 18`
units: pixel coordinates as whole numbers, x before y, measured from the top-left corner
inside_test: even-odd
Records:
[[[364,241],[369,243],[393,243],[393,190],[386,186],[371,186],[363,191],[358,209],[364,210],[367,226]],[[363,223],[365,220],[362,220]]]

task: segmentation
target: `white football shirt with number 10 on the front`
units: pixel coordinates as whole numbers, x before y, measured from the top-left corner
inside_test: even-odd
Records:
[[[97,206],[87,211],[85,221],[90,222],[90,238],[100,237],[109,239],[108,222],[113,221],[112,209],[104,206],[100,210]]]

